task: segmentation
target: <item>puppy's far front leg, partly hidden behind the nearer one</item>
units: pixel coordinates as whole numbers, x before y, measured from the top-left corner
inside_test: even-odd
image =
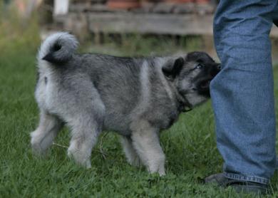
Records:
[[[120,142],[123,145],[123,151],[125,152],[125,157],[130,163],[135,167],[139,167],[141,165],[140,158],[133,147],[133,143],[130,137],[122,136],[120,137]]]

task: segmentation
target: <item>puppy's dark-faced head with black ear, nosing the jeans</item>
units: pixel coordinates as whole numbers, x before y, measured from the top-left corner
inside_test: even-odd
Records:
[[[210,81],[219,71],[220,63],[204,52],[188,53],[185,58],[170,60],[163,66],[164,75],[191,106],[210,98]]]

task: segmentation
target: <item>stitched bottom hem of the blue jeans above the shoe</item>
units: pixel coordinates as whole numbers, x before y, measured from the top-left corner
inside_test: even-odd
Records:
[[[257,176],[247,176],[247,175],[242,175],[242,174],[234,174],[230,172],[224,172],[225,177],[229,179],[236,179],[240,180],[242,182],[255,182],[259,184],[264,184],[267,185],[269,184],[269,179],[264,178],[264,177],[257,177]]]

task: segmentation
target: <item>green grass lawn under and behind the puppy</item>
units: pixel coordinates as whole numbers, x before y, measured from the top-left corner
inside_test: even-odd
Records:
[[[239,196],[230,188],[219,189],[201,182],[203,177],[222,170],[210,102],[180,115],[178,122],[162,133],[167,159],[165,177],[128,165],[118,135],[113,132],[101,135],[93,150],[91,170],[78,167],[66,156],[70,138],[67,128],[58,135],[47,157],[34,157],[30,132],[38,123],[34,100],[38,42],[34,38],[36,44],[29,45],[33,39],[29,38],[27,43],[14,44],[13,39],[9,48],[1,46],[0,39],[0,197]],[[185,43],[184,47],[170,38],[131,36],[120,44],[108,41],[102,46],[87,45],[82,51],[139,56],[202,49],[198,38],[180,42]],[[278,99],[278,67],[274,67],[274,77]],[[278,197],[277,176],[272,180],[274,197]]]

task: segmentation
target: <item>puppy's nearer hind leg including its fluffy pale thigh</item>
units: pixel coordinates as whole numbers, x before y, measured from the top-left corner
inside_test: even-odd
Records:
[[[77,90],[71,88],[73,105],[67,105],[63,113],[72,135],[68,156],[73,157],[78,164],[90,168],[91,152],[103,128],[105,106],[96,88],[84,86],[86,84],[90,85],[91,82],[82,82]],[[78,98],[74,98],[76,93],[80,95]]]

